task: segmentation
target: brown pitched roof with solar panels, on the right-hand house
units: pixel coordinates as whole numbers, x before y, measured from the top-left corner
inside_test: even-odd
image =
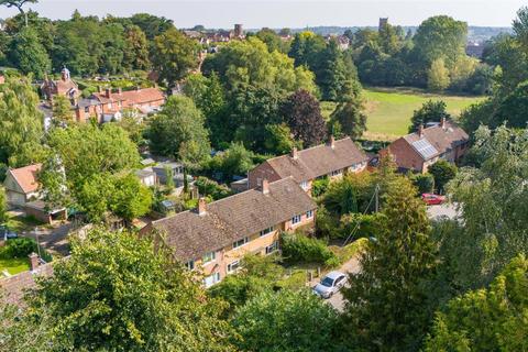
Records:
[[[424,161],[441,155],[469,140],[468,133],[454,122],[446,121],[422,130],[419,133],[410,133],[404,140],[418,152]]]

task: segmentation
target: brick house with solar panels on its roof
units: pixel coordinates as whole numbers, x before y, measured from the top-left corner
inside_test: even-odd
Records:
[[[458,163],[468,151],[469,136],[454,122],[442,119],[432,127],[420,127],[418,132],[404,135],[388,145],[400,172],[427,173],[438,160]]]

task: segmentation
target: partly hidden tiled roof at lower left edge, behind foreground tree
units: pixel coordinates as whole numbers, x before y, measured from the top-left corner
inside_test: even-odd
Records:
[[[20,305],[26,289],[35,287],[35,276],[51,276],[53,274],[52,263],[38,266],[33,272],[22,272],[20,274],[0,278],[0,294],[8,304]]]

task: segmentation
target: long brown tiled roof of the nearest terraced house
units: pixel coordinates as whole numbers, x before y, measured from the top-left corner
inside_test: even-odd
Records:
[[[270,191],[251,189],[213,201],[205,215],[184,211],[156,220],[166,232],[165,243],[184,261],[217,251],[246,235],[314,210],[317,205],[292,178],[270,184]]]

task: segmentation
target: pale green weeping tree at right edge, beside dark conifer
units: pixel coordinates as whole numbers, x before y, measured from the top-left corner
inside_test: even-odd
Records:
[[[481,127],[474,134],[476,167],[463,167],[448,184],[448,193],[460,207],[464,227],[454,238],[446,261],[453,267],[452,282],[461,289],[480,288],[518,253],[527,253],[528,196],[527,130]],[[444,241],[446,242],[446,241]]]

